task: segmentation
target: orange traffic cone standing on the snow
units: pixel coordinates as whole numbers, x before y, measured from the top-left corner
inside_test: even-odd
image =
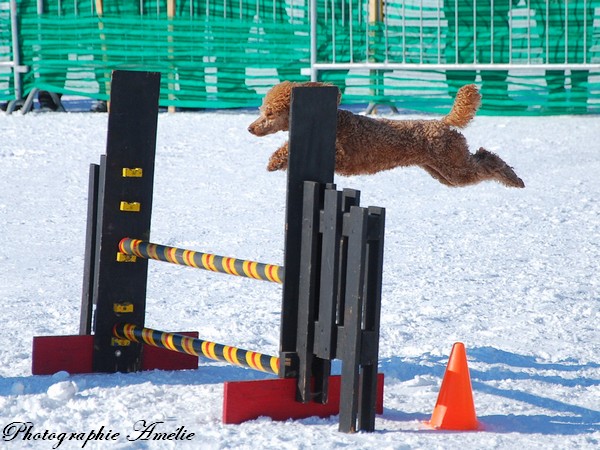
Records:
[[[437,403],[427,424],[442,430],[478,428],[467,353],[462,342],[452,347]]]

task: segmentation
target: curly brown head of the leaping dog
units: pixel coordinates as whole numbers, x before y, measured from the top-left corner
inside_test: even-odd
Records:
[[[271,88],[265,95],[263,103],[259,108],[260,117],[250,124],[248,131],[255,136],[266,136],[267,134],[287,131],[290,127],[290,103],[292,89],[295,87],[321,87],[329,86],[326,83],[309,81],[306,83],[292,83],[284,81]],[[338,93],[338,104],[340,102]]]

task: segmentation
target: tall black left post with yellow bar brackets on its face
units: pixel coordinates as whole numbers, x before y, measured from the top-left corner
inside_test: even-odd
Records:
[[[113,73],[98,190],[94,372],[140,370],[141,346],[119,346],[112,329],[124,318],[144,326],[148,261],[118,260],[117,254],[123,237],[150,239],[159,87],[159,73]]]

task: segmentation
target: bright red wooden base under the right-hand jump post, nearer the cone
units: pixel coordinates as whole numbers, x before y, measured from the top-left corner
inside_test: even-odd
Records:
[[[375,411],[383,414],[383,374],[377,375]],[[329,378],[329,401],[300,403],[296,401],[296,379],[233,381],[225,383],[223,423],[240,424],[261,416],[273,420],[329,417],[339,414],[341,377]]]

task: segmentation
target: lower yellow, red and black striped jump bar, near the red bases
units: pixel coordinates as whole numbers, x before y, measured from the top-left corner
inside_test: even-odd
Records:
[[[166,331],[151,330],[138,327],[129,323],[117,324],[113,328],[116,338],[127,339],[137,343],[146,343],[153,347],[160,347],[179,353],[193,356],[205,356],[215,361],[226,361],[230,364],[249,367],[261,372],[279,373],[279,358],[263,355],[262,353],[243,350],[229,345],[217,344],[181,334],[167,333]]]

